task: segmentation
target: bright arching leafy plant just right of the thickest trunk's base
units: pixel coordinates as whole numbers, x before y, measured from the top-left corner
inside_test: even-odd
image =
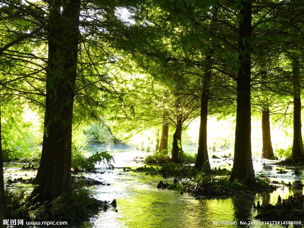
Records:
[[[114,161],[114,157],[110,155],[107,151],[104,152],[96,152],[96,154],[93,154],[89,157],[85,157],[83,155],[84,150],[88,150],[90,147],[85,147],[81,150],[81,148],[77,149],[75,145],[72,146],[72,167],[75,169],[75,171],[78,171],[80,169],[85,169],[87,171],[95,171],[95,164],[100,164],[101,162],[108,165],[109,168],[114,168],[114,166],[111,164],[111,162]]]

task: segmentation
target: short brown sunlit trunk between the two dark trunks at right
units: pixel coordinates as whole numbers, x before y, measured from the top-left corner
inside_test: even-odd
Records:
[[[274,159],[275,154],[273,153],[273,148],[271,144],[269,117],[270,117],[269,108],[264,109],[262,111],[262,139],[263,139],[262,157],[267,159]]]

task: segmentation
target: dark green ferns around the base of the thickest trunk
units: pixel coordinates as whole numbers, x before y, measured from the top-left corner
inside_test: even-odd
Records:
[[[5,191],[7,218],[22,218],[26,221],[75,221],[91,217],[102,206],[102,202],[93,198],[92,189],[85,189],[78,182],[72,183],[69,192],[43,204],[32,203],[26,190],[28,189],[15,188],[13,191]]]

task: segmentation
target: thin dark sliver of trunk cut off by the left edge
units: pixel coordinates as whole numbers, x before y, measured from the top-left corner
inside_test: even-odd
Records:
[[[5,219],[5,197],[4,197],[4,180],[3,180],[3,158],[1,143],[1,107],[0,107],[0,228],[4,227],[3,219]]]

